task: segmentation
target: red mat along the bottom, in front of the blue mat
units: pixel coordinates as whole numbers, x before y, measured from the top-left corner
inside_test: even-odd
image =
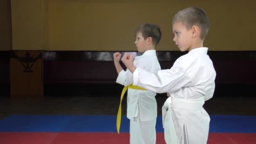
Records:
[[[0,144],[129,144],[129,133],[0,132]],[[163,133],[157,144],[165,144]],[[210,133],[207,144],[256,144],[256,133]]]

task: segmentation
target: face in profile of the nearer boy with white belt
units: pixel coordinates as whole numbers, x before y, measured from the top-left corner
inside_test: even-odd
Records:
[[[189,51],[192,42],[192,30],[187,29],[187,27],[181,22],[176,22],[173,24],[173,41],[178,46],[180,51]]]

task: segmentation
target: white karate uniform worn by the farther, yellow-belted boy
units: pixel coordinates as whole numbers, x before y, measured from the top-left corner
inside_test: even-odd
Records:
[[[156,51],[145,51],[143,55],[136,56],[133,64],[136,67],[157,73],[161,67]],[[121,85],[133,84],[133,74],[127,69],[122,70],[116,80]],[[157,102],[155,92],[128,88],[127,118],[130,119],[130,144],[155,144]]]

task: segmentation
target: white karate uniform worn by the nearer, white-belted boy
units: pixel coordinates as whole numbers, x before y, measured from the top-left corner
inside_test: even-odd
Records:
[[[133,72],[133,85],[171,96],[163,106],[167,144],[207,143],[210,117],[203,104],[213,96],[216,77],[207,51],[195,48],[157,75],[139,67]]]

